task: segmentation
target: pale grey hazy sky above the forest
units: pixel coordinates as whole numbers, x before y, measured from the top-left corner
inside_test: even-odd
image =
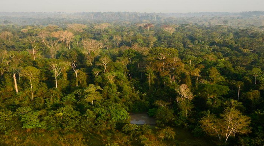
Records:
[[[1,12],[264,11],[264,0],[0,0]]]

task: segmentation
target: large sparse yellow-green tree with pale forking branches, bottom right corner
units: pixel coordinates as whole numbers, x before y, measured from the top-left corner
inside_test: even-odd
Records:
[[[236,136],[236,134],[246,134],[251,132],[250,117],[242,115],[242,113],[234,107],[227,107],[223,114],[220,114],[221,118],[217,118],[214,115],[208,115],[203,117],[200,121],[202,128],[210,135],[216,135],[221,141],[225,138],[227,142],[230,136]]]

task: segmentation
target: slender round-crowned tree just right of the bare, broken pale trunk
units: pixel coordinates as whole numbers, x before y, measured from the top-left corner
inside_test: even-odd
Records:
[[[40,74],[40,70],[32,66],[27,66],[21,70],[21,75],[28,78],[30,81],[32,101],[33,101],[33,80],[37,79],[39,74]]]

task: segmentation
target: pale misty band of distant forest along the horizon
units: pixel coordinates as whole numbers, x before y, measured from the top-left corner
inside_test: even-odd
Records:
[[[178,23],[199,25],[229,25],[245,27],[263,26],[264,11],[241,13],[199,12],[199,13],[138,13],[138,12],[0,12],[0,23],[3,25],[59,25],[65,23],[113,23],[113,22],[151,22]]]

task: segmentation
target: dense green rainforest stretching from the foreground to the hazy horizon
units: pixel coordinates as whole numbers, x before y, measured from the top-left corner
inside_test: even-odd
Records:
[[[0,145],[264,145],[263,12],[242,13],[262,23],[244,27],[121,14],[16,25],[1,13]]]

